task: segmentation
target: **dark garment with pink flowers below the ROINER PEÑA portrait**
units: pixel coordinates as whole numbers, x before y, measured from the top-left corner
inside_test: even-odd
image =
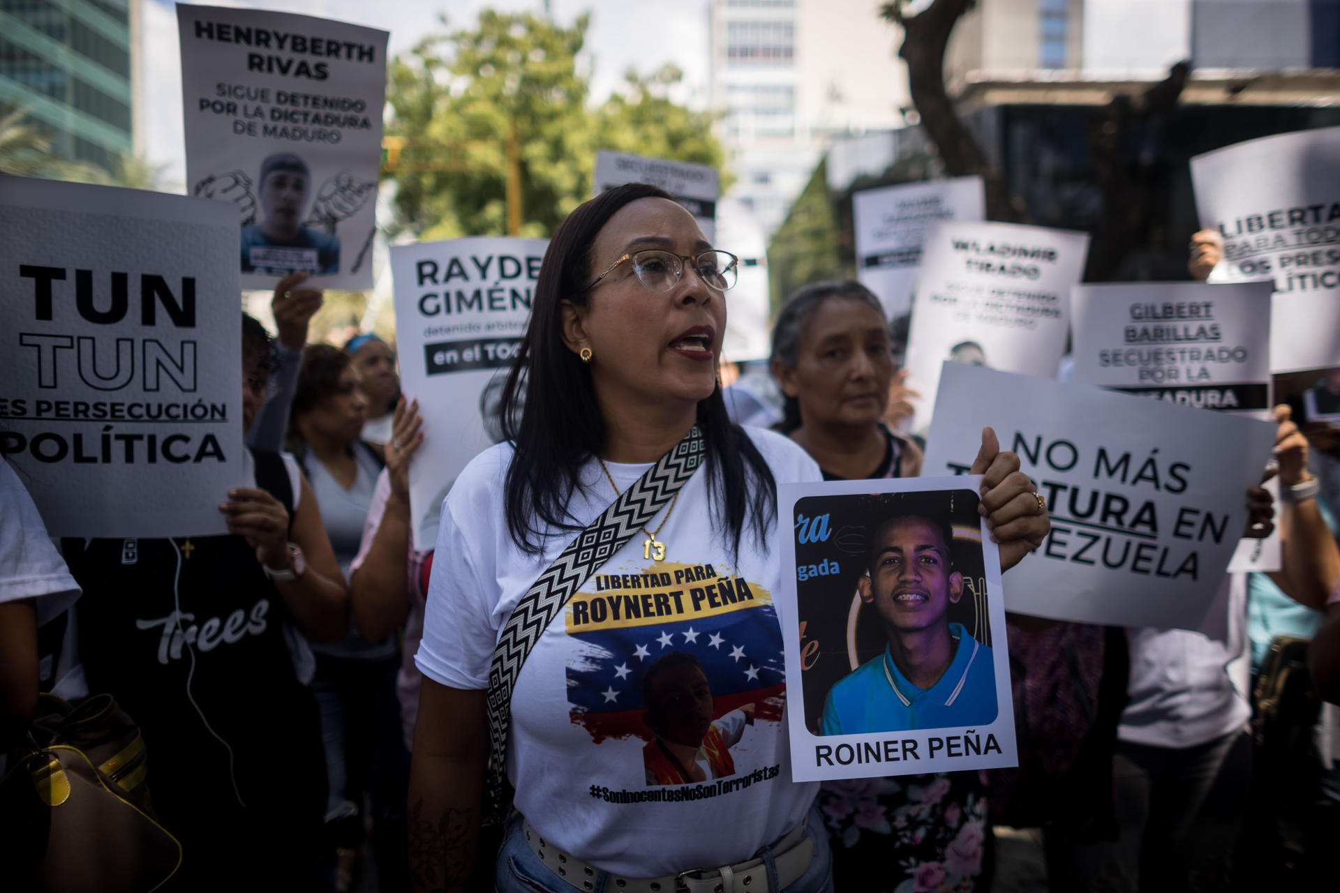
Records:
[[[819,807],[832,838],[835,889],[977,890],[990,834],[985,773],[824,782]]]

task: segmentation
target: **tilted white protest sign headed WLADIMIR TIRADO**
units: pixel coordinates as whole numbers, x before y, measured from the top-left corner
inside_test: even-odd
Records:
[[[907,336],[907,386],[925,431],[946,359],[1055,378],[1088,236],[1013,224],[937,224],[926,236]]]

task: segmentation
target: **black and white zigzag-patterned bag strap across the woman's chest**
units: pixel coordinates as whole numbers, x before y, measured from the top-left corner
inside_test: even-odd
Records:
[[[489,664],[489,777],[484,794],[489,818],[501,821],[508,806],[503,790],[512,689],[531,649],[572,593],[622,549],[632,534],[650,523],[693,477],[702,458],[702,431],[695,424],[683,440],[661,457],[553,560],[508,617]]]

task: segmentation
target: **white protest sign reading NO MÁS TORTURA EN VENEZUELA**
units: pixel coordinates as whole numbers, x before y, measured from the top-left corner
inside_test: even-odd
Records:
[[[1025,615],[1195,629],[1223,580],[1274,424],[945,363],[926,474],[963,474],[982,426],[1047,499],[1052,532],[1009,572]]]

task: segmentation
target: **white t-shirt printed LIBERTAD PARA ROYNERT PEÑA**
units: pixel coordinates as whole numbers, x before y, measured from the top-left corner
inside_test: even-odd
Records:
[[[787,438],[745,430],[779,483],[821,479]],[[415,660],[453,688],[488,688],[508,616],[576,536],[548,537],[541,556],[516,548],[503,499],[511,455],[498,444],[476,457],[442,507]],[[651,467],[607,465],[620,490]],[[587,525],[616,494],[598,462],[583,469],[582,483],[570,510]],[[662,521],[665,509],[647,529]],[[507,759],[516,807],[545,841],[630,877],[750,858],[800,822],[817,791],[791,781],[776,526],[762,540],[766,553],[746,529],[733,562],[712,533],[699,469],[657,536],[663,561],[643,557],[645,538],[635,534],[599,568],[531,652],[512,698]],[[655,700],[665,707],[653,716],[639,684],[671,652],[686,656],[658,669]],[[691,707],[674,712],[686,702]],[[753,722],[742,722],[750,704]],[[671,759],[675,748],[651,732],[649,718],[697,771]],[[705,781],[670,781],[677,763]]]

